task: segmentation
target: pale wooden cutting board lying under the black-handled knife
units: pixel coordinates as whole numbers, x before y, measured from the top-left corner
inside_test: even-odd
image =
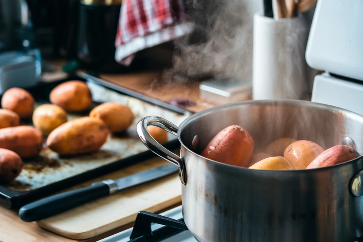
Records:
[[[156,157],[74,186],[72,189],[88,186],[96,181],[117,179],[164,164],[168,164],[168,161]],[[86,239],[135,221],[139,211],[154,213],[180,202],[181,183],[176,173],[99,198],[36,223],[68,238]]]

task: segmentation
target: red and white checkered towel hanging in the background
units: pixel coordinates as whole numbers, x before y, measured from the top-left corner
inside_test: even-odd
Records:
[[[190,32],[182,0],[123,0],[115,60],[129,66],[136,52]]]

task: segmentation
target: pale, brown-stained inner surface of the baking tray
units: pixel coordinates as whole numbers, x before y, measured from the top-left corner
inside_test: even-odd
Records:
[[[87,83],[96,103],[117,102],[131,108],[135,119],[130,128],[123,134],[117,136],[109,135],[106,143],[101,149],[94,153],[85,155],[60,157],[44,145],[38,157],[24,160],[23,171],[6,188],[26,191],[49,185],[53,182],[61,181],[66,178],[78,175],[82,172],[101,167],[114,161],[136,155],[146,151],[147,148],[140,141],[136,134],[136,123],[145,116],[156,115],[170,120],[177,126],[190,114],[177,114],[170,110],[149,104],[139,99],[118,94],[95,83]],[[94,103],[93,107],[97,104]],[[92,107],[91,107],[92,108]],[[69,114],[68,120],[87,116],[83,114]],[[176,136],[168,134],[169,141],[176,139]],[[45,140],[45,139],[44,139]]]

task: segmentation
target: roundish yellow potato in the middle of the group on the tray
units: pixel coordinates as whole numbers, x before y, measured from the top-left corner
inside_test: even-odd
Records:
[[[33,124],[43,134],[49,135],[55,128],[67,122],[68,117],[63,108],[54,104],[42,104],[33,112]]]

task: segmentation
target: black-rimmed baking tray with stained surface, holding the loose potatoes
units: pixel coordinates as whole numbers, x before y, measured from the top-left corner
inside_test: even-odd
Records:
[[[78,79],[87,83],[93,95],[94,103],[85,112],[68,114],[69,120],[80,116],[87,116],[94,106],[97,106],[99,103],[112,101],[131,108],[135,116],[133,124],[122,134],[117,136],[109,135],[101,149],[90,154],[60,157],[44,145],[38,157],[24,160],[23,171],[14,181],[0,186],[1,205],[7,208],[19,208],[50,193],[93,179],[115,169],[149,159],[155,155],[145,147],[137,136],[135,131],[136,123],[144,116],[156,115],[179,125],[189,116],[188,113],[180,114],[135,97],[120,94],[115,90],[98,85],[94,81],[87,81],[80,77],[43,83],[27,90],[36,99],[36,105],[49,103],[50,91],[56,85],[71,79]],[[30,121],[22,121],[21,125],[32,125]],[[164,146],[168,149],[180,147],[176,136],[168,135],[169,140]]]

